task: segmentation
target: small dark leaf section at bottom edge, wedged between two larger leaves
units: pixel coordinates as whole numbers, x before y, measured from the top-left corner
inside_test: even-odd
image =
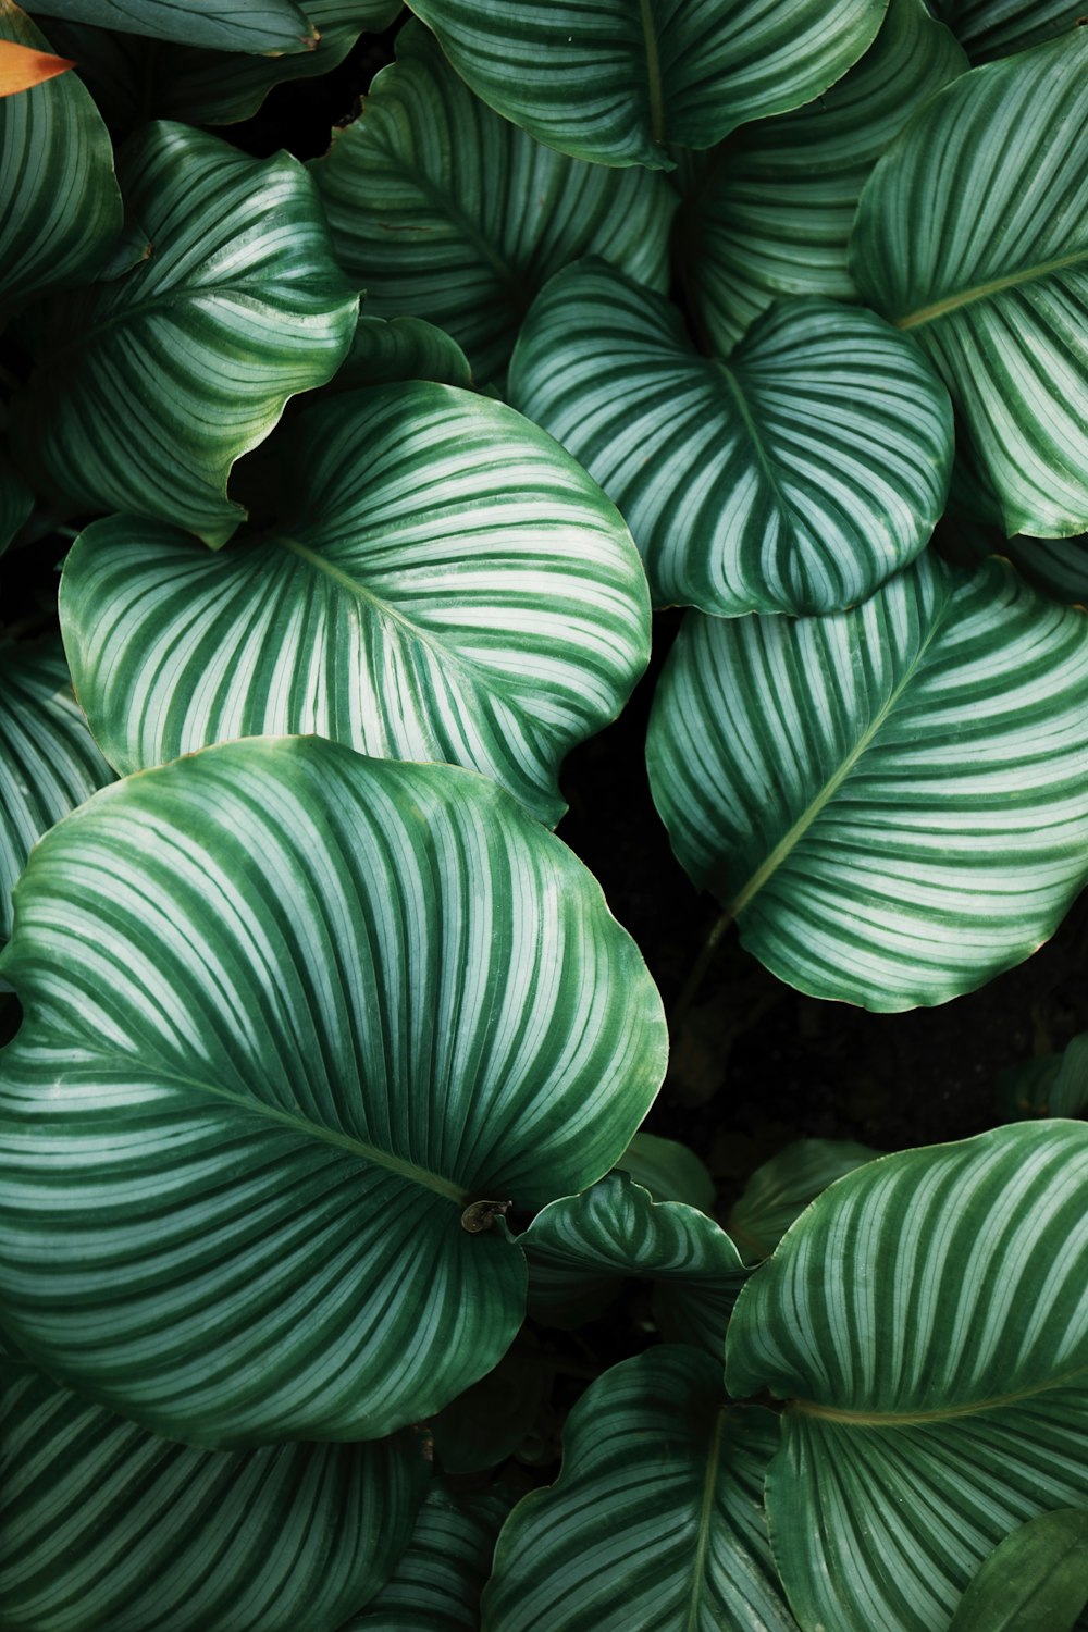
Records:
[[[436,1483],[388,1583],[343,1632],[480,1632],[480,1594],[509,1508],[502,1487],[453,1495]]]

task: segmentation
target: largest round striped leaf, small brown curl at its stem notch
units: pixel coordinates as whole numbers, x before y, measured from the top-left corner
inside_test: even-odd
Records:
[[[564,845],[483,777],[315,738],[96,795],[34,850],[0,971],[0,1320],[194,1444],[440,1410],[522,1320],[496,1206],[605,1172],[664,1071]]]

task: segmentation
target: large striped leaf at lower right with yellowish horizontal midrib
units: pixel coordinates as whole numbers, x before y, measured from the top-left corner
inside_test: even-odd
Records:
[[[816,1200],[741,1293],[736,1395],[806,1632],[943,1632],[1015,1526],[1088,1506],[1088,1128],[905,1151]]]

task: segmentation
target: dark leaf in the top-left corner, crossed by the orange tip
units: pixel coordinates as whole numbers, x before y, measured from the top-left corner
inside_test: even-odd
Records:
[[[49,51],[11,0],[0,41]],[[93,277],[121,232],[109,134],[73,73],[0,98],[0,305]]]

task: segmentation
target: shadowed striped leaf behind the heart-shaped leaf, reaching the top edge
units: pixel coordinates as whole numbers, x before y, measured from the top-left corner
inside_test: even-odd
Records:
[[[967,69],[923,0],[891,0],[874,44],[817,101],[734,132],[677,222],[692,320],[723,356],[781,295],[856,300],[847,240],[873,165]]]

